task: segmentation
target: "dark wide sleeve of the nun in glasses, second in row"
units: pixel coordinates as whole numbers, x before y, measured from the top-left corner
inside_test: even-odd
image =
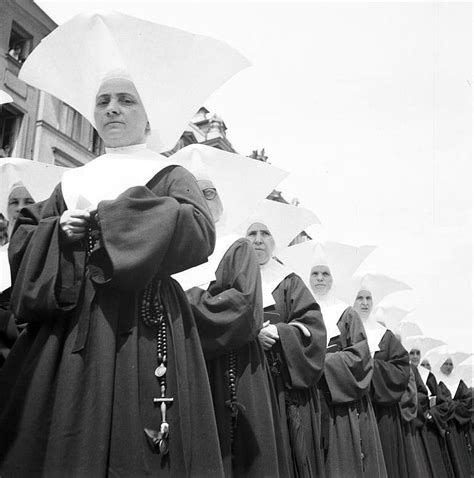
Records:
[[[263,324],[260,267],[252,245],[238,239],[227,250],[207,291],[186,293],[204,356],[215,358],[255,340]]]

